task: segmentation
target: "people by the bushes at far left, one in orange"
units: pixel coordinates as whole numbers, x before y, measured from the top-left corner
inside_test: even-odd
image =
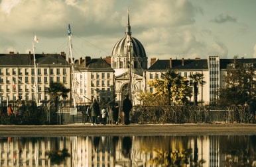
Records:
[[[7,106],[7,115],[9,117],[16,116],[16,117],[23,117],[23,114],[25,112],[25,101],[21,99],[21,97],[18,97],[17,102],[17,110],[15,113],[13,112],[13,108],[11,104],[8,104]]]

